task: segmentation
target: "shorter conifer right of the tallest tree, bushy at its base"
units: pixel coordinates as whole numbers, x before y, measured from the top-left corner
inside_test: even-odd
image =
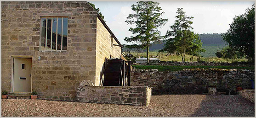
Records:
[[[183,8],[178,8],[176,16],[177,20],[174,25],[170,26],[171,30],[165,33],[165,45],[159,52],[167,51],[168,53],[181,54],[182,62],[185,62],[185,54],[199,55],[204,52],[202,41],[198,34],[190,31],[193,29],[191,16],[186,16]]]

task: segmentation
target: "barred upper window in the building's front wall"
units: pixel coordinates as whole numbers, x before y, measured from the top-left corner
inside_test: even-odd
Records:
[[[41,17],[40,50],[67,50],[68,17]]]

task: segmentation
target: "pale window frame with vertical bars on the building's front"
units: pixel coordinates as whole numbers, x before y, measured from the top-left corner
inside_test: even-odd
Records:
[[[51,18],[51,50],[42,50],[41,49],[41,32],[42,32],[42,18],[46,18],[46,38],[45,38],[45,44],[46,44],[46,48],[47,48],[47,23],[48,23],[48,18]],[[56,36],[56,50],[52,50],[52,24],[53,24],[53,18],[57,18],[57,26],[56,26],[56,30],[58,31],[58,18],[62,18],[62,31],[61,31],[61,49],[57,50],[57,36]],[[39,50],[40,51],[66,51],[63,50],[63,18],[68,18],[68,16],[41,16],[40,17],[40,41],[39,41]],[[67,22],[68,23],[68,22]],[[68,46],[68,24],[67,24],[67,46]]]

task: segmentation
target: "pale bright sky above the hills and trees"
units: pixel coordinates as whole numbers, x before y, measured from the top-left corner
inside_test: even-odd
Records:
[[[131,44],[124,41],[125,37],[130,37],[133,34],[128,31],[130,27],[135,25],[127,25],[125,20],[129,14],[134,14],[131,10],[131,5],[136,4],[135,1],[92,1],[96,8],[104,16],[106,24],[110,30],[118,38],[120,43]],[[224,33],[229,29],[229,24],[233,22],[235,16],[244,14],[247,8],[252,7],[254,1],[159,1],[159,6],[165,13],[162,18],[168,19],[168,22],[159,28],[165,35],[165,32],[170,29],[176,20],[175,16],[177,8],[183,8],[187,16],[193,16],[193,32],[195,33]]]

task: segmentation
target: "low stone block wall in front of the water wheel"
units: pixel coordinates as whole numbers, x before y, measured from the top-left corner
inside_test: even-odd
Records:
[[[151,88],[148,86],[77,86],[77,102],[148,106]]]

